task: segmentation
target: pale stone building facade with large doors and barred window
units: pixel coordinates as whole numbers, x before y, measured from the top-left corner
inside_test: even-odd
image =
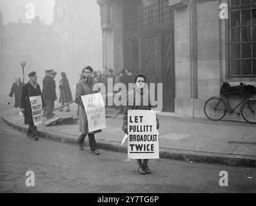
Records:
[[[163,111],[204,117],[204,101],[219,96],[222,82],[256,86],[255,0],[97,3],[103,66],[163,83]]]

